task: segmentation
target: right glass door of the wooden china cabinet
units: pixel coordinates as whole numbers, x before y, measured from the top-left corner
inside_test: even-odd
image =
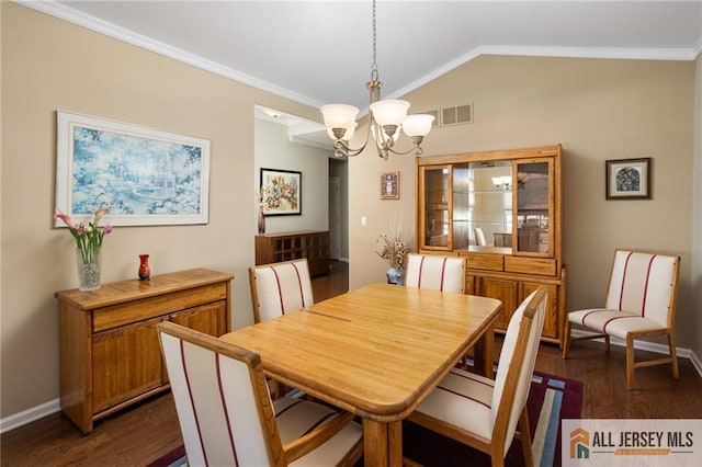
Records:
[[[553,160],[514,161],[516,254],[553,254]]]

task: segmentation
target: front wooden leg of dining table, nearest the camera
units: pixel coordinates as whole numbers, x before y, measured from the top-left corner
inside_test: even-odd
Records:
[[[403,465],[403,422],[363,419],[363,463],[366,467]]]

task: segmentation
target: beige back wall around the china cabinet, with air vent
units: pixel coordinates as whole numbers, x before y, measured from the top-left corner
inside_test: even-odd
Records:
[[[406,98],[417,111],[475,105],[473,124],[432,130],[429,156],[561,143],[568,308],[603,303],[618,247],[680,254],[678,344],[689,349],[701,340],[690,326],[694,76],[691,61],[482,56]],[[605,201],[604,161],[641,157],[654,159],[653,200]],[[351,186],[374,187],[381,171],[395,168],[400,201],[377,203],[375,189],[350,198],[352,287],[383,280],[373,240],[386,219],[401,209],[406,227],[414,225],[415,168],[411,156],[350,161]]]

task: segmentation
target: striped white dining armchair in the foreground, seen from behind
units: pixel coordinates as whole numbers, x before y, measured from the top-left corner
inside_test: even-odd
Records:
[[[189,466],[353,465],[362,428],[308,400],[271,401],[259,354],[158,324]]]

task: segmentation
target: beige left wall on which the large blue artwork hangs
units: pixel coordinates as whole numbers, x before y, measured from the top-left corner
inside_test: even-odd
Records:
[[[230,272],[234,324],[250,322],[253,263],[253,104],[318,111],[2,2],[2,354],[4,418],[58,397],[54,292],[77,286],[73,243],[52,228],[56,110],[212,141],[210,224],[121,227],[105,239],[104,281],[194,266]]]

